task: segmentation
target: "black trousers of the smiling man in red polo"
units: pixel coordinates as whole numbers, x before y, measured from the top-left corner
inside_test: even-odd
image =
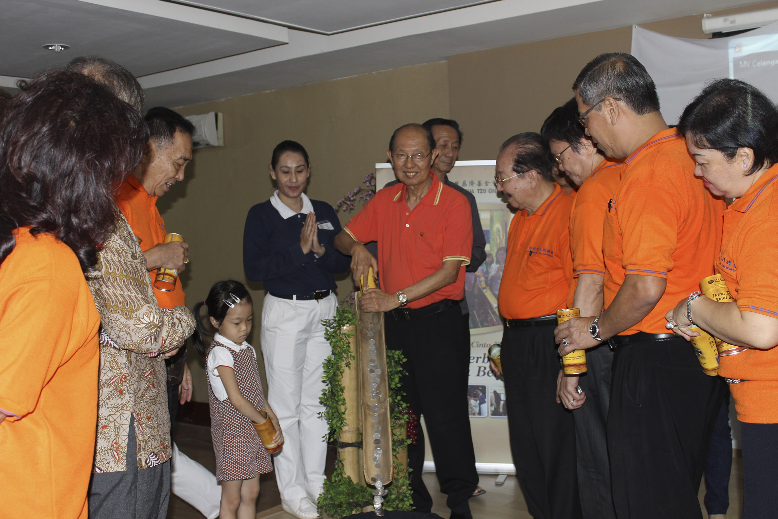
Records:
[[[402,377],[405,402],[417,416],[424,415],[429,446],[435,458],[440,491],[448,495],[452,511],[468,514],[468,499],[478,486],[475,452],[468,418],[470,331],[458,304],[428,317],[398,321],[386,314],[387,348],[407,359]],[[429,512],[432,497],[422,481],[424,434],[419,426],[416,445],[408,445],[413,506]]]

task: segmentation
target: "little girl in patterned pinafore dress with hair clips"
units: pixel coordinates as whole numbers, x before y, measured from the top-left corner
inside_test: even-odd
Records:
[[[205,306],[217,333],[205,351],[200,320]],[[254,423],[269,418],[275,426],[273,443],[283,442],[281,426],[265,402],[259,380],[257,352],[246,342],[251,332],[251,295],[237,281],[220,281],[208,298],[194,308],[197,330],[195,348],[207,355],[211,436],[216,451],[216,479],[222,482],[222,519],[254,519],[259,495],[259,475],[271,472],[270,454],[258,437]]]

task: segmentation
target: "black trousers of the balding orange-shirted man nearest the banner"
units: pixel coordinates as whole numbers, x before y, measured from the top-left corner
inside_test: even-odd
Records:
[[[580,519],[573,413],[556,403],[555,326],[503,331],[510,451],[532,517]]]

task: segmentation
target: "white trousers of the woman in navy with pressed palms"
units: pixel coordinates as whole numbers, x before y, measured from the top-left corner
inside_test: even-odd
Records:
[[[309,496],[316,503],[324,483],[327,422],[317,416],[324,382],[324,359],[332,348],[322,319],[335,315],[338,300],[286,300],[265,296],[262,354],[268,375],[268,403],[279,418],[284,447],[274,456],[275,479],[283,500]]]

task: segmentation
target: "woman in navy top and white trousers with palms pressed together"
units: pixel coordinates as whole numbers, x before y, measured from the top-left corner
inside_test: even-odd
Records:
[[[284,141],[273,150],[270,176],[278,191],[254,205],[244,228],[244,270],[265,284],[261,345],[268,402],[286,438],[275,456],[275,478],[284,510],[318,517],[324,482],[327,423],[320,418],[322,363],[331,353],[322,319],[335,315],[334,274],[350,259],[333,247],[341,225],[335,209],[305,191],[310,163],[305,148]]]

